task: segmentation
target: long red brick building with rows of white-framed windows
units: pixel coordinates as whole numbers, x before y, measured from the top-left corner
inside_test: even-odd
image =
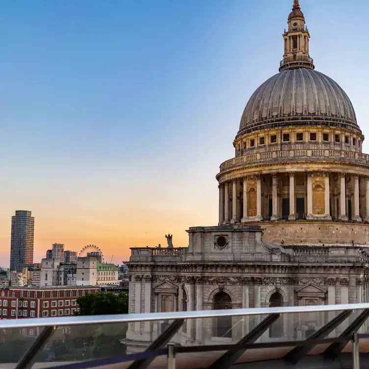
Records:
[[[9,287],[0,289],[0,319],[69,316],[77,311],[77,298],[100,292],[100,287]]]

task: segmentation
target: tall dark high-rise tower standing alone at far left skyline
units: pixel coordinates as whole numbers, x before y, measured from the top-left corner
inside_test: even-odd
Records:
[[[12,216],[10,270],[22,272],[23,264],[33,263],[34,217],[31,211],[17,210]]]

